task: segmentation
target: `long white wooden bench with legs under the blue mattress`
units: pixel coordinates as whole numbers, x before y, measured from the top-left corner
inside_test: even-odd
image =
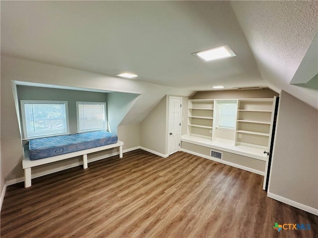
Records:
[[[83,169],[87,169],[87,154],[97,152],[97,151],[102,151],[102,150],[108,150],[111,148],[119,147],[119,158],[123,158],[123,145],[124,142],[118,140],[117,143],[114,144],[109,144],[109,145],[104,145],[104,146],[99,146],[99,147],[94,147],[91,149],[86,149],[86,150],[80,150],[68,154],[63,154],[63,155],[57,155],[57,156],[52,156],[44,159],[38,159],[38,160],[30,160],[29,158],[29,147],[28,144],[24,145],[24,159],[22,160],[22,168],[24,170],[24,187],[29,187],[31,186],[31,168],[39,165],[45,165],[49,164],[52,162],[60,161],[60,160],[65,160],[77,156],[82,156],[83,158]]]

